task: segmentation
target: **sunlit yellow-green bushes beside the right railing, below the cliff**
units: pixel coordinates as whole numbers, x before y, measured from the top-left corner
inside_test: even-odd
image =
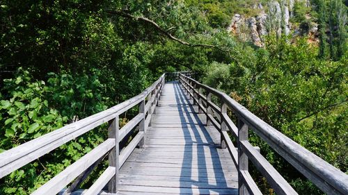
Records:
[[[230,65],[212,63],[204,82],[347,172],[347,60],[319,60],[317,50],[303,39],[290,44],[269,37],[265,49],[244,50]],[[252,134],[250,140],[297,192],[322,194],[260,138]]]

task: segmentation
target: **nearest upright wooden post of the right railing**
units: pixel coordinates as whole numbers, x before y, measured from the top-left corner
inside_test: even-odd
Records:
[[[248,125],[242,119],[238,119],[238,189],[239,195],[248,195],[248,190],[244,186],[241,171],[248,171],[248,156],[242,150],[241,141],[248,140]]]

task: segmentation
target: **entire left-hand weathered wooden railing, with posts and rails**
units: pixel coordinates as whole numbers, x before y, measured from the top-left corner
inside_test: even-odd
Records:
[[[118,190],[118,170],[136,146],[143,147],[145,144],[145,132],[148,126],[151,126],[152,114],[155,112],[157,101],[164,86],[164,80],[165,74],[145,91],[138,96],[134,96],[132,99],[0,153],[0,178],[29,164],[33,160],[40,158],[42,155],[49,153],[89,130],[108,122],[108,139],[61,171],[61,173],[58,173],[58,175],[54,176],[54,178],[45,183],[45,185],[42,185],[33,192],[33,194],[57,194],[73,180],[74,182],[72,185],[70,185],[68,189],[65,189],[63,194],[74,192],[106,155],[109,155],[109,167],[87,190],[85,195],[97,194],[108,184],[109,192],[116,193]],[[120,114],[135,106],[139,106],[139,114],[119,129]],[[136,127],[139,128],[139,132],[132,139],[132,142],[122,149],[122,151],[119,151],[120,141]]]

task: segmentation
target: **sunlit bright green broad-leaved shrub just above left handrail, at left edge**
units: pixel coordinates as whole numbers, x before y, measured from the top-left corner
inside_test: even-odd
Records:
[[[43,81],[33,81],[28,71],[21,76],[4,81],[5,92],[1,100],[0,149],[7,150],[40,137],[63,126],[67,117],[61,117],[58,111],[50,108],[47,95],[50,90]]]

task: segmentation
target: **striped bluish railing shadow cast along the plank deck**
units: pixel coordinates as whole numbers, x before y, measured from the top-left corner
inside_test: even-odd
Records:
[[[187,99],[179,83],[173,82],[173,87],[178,112],[182,113],[180,115],[180,122],[182,126],[185,126],[183,127],[185,129],[182,130],[185,146],[180,175],[180,194],[187,194],[187,189],[191,189],[192,187],[197,187],[201,194],[206,194],[207,189],[209,189],[209,192],[217,192],[214,189],[228,188],[225,174],[222,171],[223,167],[219,153],[216,146],[214,146],[212,137],[210,137],[202,121],[196,115],[193,106],[189,99]],[[201,135],[204,137],[201,137]],[[197,155],[193,152],[195,147]],[[205,153],[205,151],[209,151],[209,153]],[[197,156],[196,162],[193,160],[194,156]],[[207,167],[207,160],[210,159],[213,171]],[[197,169],[193,169],[192,165],[195,163],[197,164]],[[195,170],[198,170],[198,173],[196,173],[197,179],[193,180],[192,173],[195,173]],[[212,173],[214,173],[214,176]],[[183,188],[187,189],[183,192]],[[191,193],[193,193],[192,189]]]

